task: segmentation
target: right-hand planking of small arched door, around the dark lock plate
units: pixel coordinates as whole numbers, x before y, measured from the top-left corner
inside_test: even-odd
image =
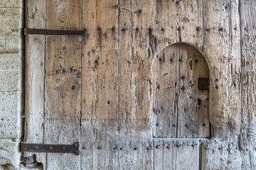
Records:
[[[177,137],[210,137],[208,90],[198,89],[198,78],[209,78],[209,69],[198,50],[179,45],[179,96]]]

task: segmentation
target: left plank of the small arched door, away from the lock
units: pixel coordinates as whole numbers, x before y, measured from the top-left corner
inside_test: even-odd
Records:
[[[164,48],[157,58],[154,137],[176,137],[179,95],[179,45]]]

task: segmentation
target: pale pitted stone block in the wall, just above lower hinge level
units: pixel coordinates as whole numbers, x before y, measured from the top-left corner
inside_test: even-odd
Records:
[[[22,92],[0,92],[0,139],[21,137]]]

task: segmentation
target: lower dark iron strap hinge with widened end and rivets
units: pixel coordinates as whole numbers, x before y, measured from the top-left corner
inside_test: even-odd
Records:
[[[80,154],[79,142],[75,142],[73,145],[50,145],[50,144],[21,143],[21,151],[73,153],[75,155]]]

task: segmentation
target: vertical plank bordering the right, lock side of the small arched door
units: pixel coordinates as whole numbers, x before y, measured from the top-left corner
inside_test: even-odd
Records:
[[[208,57],[210,67],[210,123],[213,135],[225,135],[219,129],[226,129],[228,122],[228,58],[229,58],[229,1],[204,1],[203,53]],[[226,6],[226,8],[225,8]],[[215,15],[213,16],[213,13]],[[218,127],[217,127],[218,126]],[[226,131],[228,132],[228,130]]]

